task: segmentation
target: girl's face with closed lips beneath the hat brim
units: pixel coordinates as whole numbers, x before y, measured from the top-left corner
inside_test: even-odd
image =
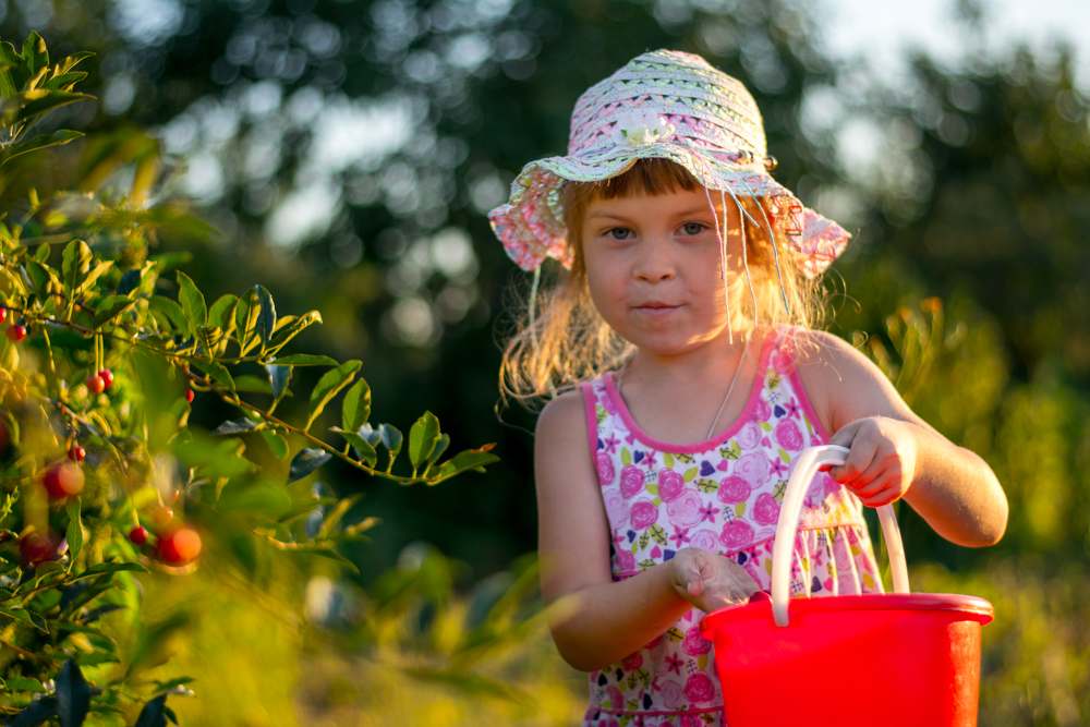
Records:
[[[726,207],[728,250],[737,250],[738,209],[730,199]],[[703,189],[594,199],[581,232],[594,306],[622,338],[671,355],[727,335],[719,241]]]

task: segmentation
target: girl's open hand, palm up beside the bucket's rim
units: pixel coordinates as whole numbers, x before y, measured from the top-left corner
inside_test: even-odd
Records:
[[[674,590],[705,614],[749,603],[761,590],[734,560],[700,548],[681,548],[669,562]]]

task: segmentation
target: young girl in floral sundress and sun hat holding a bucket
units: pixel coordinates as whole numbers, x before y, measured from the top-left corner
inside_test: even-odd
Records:
[[[491,215],[535,270],[504,381],[553,397],[535,453],[542,589],[560,654],[590,673],[584,726],[722,724],[697,625],[771,586],[779,500],[809,446],[851,451],[808,492],[792,594],[882,590],[860,504],[904,497],[968,546],[1006,526],[988,465],[809,329],[813,279],[848,235],[765,154],[741,84],[644,53],[583,94],[569,155],[529,165]],[[546,256],[567,272],[538,290]]]

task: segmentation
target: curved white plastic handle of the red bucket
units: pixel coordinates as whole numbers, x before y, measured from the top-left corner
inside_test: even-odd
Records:
[[[823,445],[803,449],[795,462],[795,471],[787,481],[787,490],[779,508],[779,522],[776,524],[776,546],[772,555],[772,614],[776,626],[788,623],[787,605],[790,601],[791,557],[795,554],[795,535],[799,528],[799,514],[802,510],[802,497],[810,488],[814,475],[821,470],[844,464],[848,455],[846,447]],[[893,571],[894,593],[908,593],[908,568],[905,565],[905,545],[900,540],[900,528],[897,526],[897,516],[892,505],[877,508],[879,520],[882,523],[882,535],[885,538],[886,552],[889,554],[889,569]]]

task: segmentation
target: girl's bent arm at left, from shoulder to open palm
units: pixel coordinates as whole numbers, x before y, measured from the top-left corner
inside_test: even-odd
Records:
[[[588,447],[584,405],[582,393],[572,391],[545,407],[534,459],[549,629],[565,661],[594,671],[662,635],[694,604],[712,610],[744,603],[756,584],[736,564],[694,548],[613,582],[611,533]]]

